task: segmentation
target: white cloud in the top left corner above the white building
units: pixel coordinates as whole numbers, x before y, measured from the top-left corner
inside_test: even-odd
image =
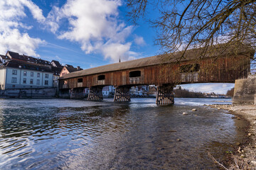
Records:
[[[43,23],[46,18],[36,4],[30,0],[1,0],[0,1],[0,53],[5,54],[7,50],[24,53],[26,55],[38,56],[36,48],[44,43],[39,38],[31,38],[28,33],[21,33],[19,28],[25,30],[32,26],[21,23],[21,18],[26,17],[27,7],[36,21]]]

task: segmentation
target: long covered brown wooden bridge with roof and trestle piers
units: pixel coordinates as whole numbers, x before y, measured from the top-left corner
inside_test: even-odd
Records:
[[[254,50],[214,49],[203,57],[201,49],[192,49],[185,55],[175,52],[65,74],[59,79],[60,93],[71,90],[70,98],[80,98],[83,89],[89,88],[88,100],[98,101],[103,99],[104,86],[114,86],[114,101],[130,101],[132,86],[156,85],[156,104],[163,105],[174,103],[176,84],[234,83],[247,77]]]

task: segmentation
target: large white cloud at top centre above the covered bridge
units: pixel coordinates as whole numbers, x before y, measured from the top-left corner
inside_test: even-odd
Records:
[[[117,62],[119,56],[128,60],[132,43],[126,39],[133,27],[117,19],[121,5],[119,0],[68,0],[61,8],[54,6],[47,18],[59,23],[53,32],[68,19],[70,28],[60,30],[58,38],[79,42],[86,54],[100,52],[105,59]]]

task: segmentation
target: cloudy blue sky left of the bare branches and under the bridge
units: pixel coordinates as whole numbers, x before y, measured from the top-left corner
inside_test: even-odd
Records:
[[[159,53],[147,23],[129,23],[122,0],[1,0],[0,54],[7,50],[83,69]],[[154,12],[151,13],[153,15]],[[225,93],[233,84],[184,85]]]

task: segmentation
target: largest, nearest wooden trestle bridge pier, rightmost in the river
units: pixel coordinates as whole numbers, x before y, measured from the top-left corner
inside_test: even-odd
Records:
[[[174,104],[174,86],[158,86],[156,94],[157,105]]]

